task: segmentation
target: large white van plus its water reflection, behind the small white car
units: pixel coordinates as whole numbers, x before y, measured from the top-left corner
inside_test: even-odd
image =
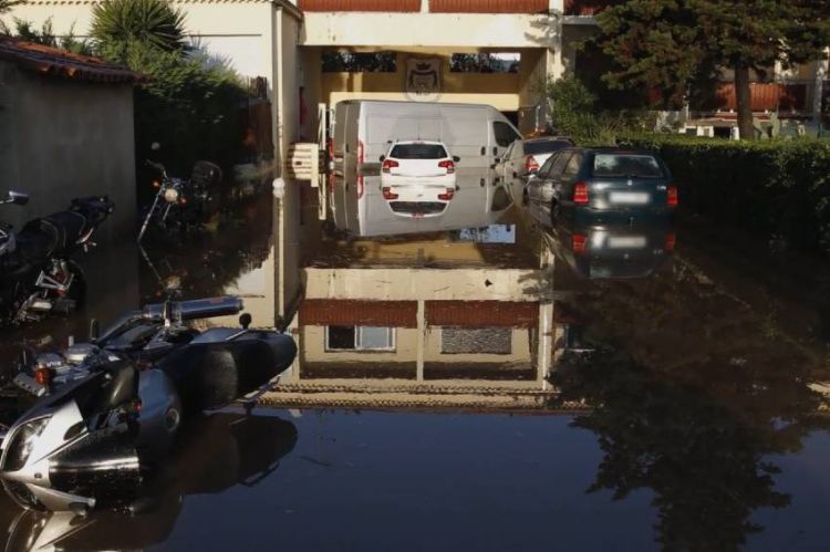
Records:
[[[489,105],[362,100],[335,105],[330,135],[333,170],[328,191],[332,219],[338,228],[356,236],[424,231],[419,228],[425,226],[419,223],[423,221],[394,217],[383,200],[381,156],[390,143],[442,142],[459,158],[453,202],[464,204],[467,198],[470,205],[465,209],[447,209],[440,217],[450,219],[442,221],[443,228],[459,228],[461,221],[452,220],[455,211],[464,211],[465,221],[470,219],[469,208],[475,208],[476,213],[480,210],[483,222],[492,219],[489,197],[495,190],[490,166],[521,137],[507,117]],[[465,178],[466,175],[469,177]]]

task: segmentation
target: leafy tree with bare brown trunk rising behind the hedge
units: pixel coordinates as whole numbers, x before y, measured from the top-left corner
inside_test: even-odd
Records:
[[[830,44],[828,0],[630,0],[598,24],[596,43],[621,67],[605,75],[611,86],[657,86],[676,101],[733,70],[746,139],[755,137],[750,72],[821,59]]]

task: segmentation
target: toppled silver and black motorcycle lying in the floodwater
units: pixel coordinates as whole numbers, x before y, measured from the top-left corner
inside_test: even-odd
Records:
[[[14,383],[39,398],[0,445],[7,493],[23,508],[89,512],[141,482],[188,415],[245,398],[250,408],[293,363],[293,340],[249,329],[248,314],[241,329],[184,324],[241,308],[237,298],[148,305],[90,343],[34,357],[33,377],[24,368]]]

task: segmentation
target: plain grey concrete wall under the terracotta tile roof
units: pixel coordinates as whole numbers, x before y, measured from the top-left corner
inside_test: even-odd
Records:
[[[106,194],[115,213],[98,239],[133,230],[131,84],[44,77],[0,62],[0,192],[31,195],[25,208],[4,208],[3,220],[19,227],[65,209],[73,197]]]

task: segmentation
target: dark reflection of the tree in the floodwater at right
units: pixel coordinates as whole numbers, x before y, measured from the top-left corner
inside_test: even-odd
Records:
[[[827,399],[809,386],[822,355],[677,272],[561,306],[589,342],[552,376],[560,405],[594,408],[573,420],[603,452],[588,492],[651,489],[664,550],[737,550],[764,530],[756,511],[790,504],[769,457],[828,429]]]

